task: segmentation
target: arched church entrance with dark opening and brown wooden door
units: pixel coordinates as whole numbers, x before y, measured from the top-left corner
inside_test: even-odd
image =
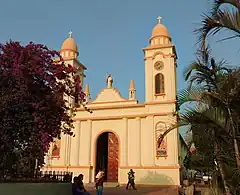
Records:
[[[112,132],[98,136],[96,144],[95,175],[100,169],[105,169],[106,181],[118,181],[119,141]]]

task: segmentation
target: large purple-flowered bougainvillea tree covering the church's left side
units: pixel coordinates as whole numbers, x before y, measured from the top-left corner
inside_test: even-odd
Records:
[[[85,96],[75,73],[57,51],[46,46],[13,41],[0,45],[2,168],[14,164],[13,156],[18,160],[31,157],[31,162],[23,164],[34,164],[36,158],[42,164],[53,138],[61,132],[72,135],[72,109],[67,100],[79,103]]]

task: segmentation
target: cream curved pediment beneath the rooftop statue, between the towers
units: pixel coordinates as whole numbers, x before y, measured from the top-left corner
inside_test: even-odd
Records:
[[[127,101],[123,98],[120,92],[115,88],[104,88],[97,95],[97,98],[92,103],[98,102],[121,102]]]

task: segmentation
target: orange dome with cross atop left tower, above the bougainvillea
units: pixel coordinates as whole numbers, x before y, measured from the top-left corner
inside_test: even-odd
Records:
[[[72,32],[69,32],[69,37],[63,42],[60,53],[63,58],[77,58],[78,46],[72,38]]]

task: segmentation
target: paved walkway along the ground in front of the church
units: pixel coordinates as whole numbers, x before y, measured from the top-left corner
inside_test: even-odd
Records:
[[[93,188],[88,191],[91,195],[96,195]],[[137,190],[126,190],[125,187],[108,187],[104,188],[103,195],[178,195],[176,188],[161,188],[161,187],[138,187]]]

